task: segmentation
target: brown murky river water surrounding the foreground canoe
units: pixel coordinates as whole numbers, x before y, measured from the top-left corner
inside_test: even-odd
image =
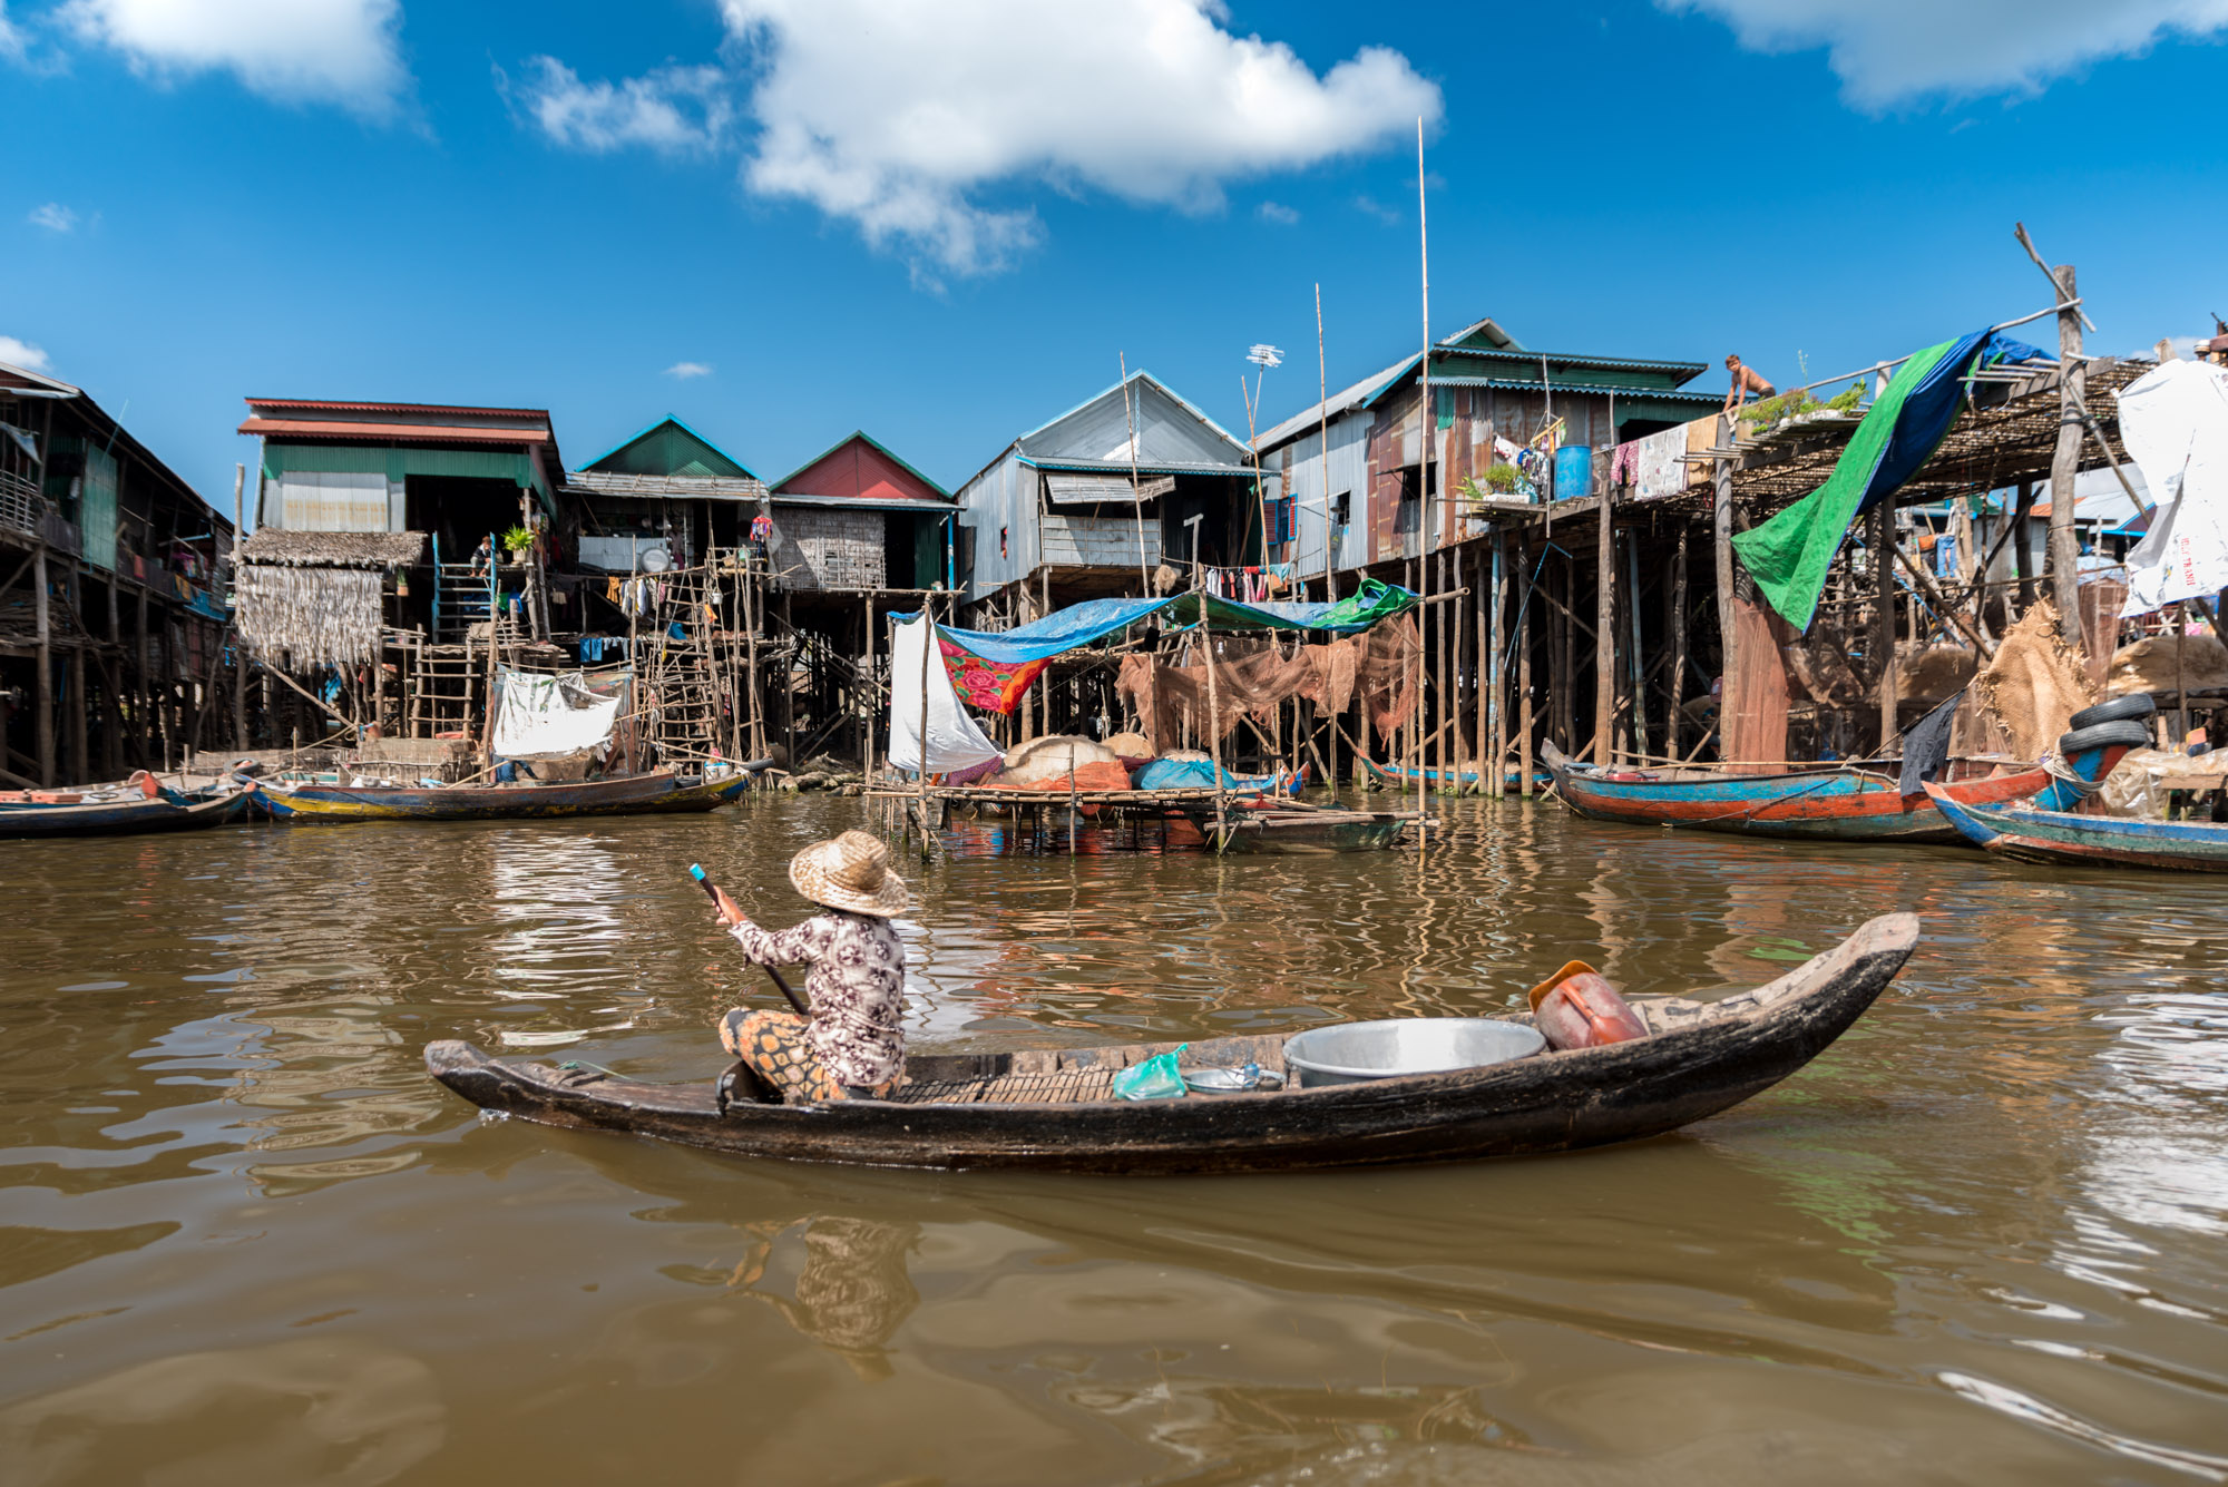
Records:
[[[481,1122],[434,1037],[720,1066],[856,801],[0,844],[9,1483],[2228,1478],[2221,886],[1442,806],[1337,859],[913,868],[913,1046],[1753,984],[1927,942],[1789,1084],[1548,1160],[1098,1180]],[[987,848],[989,839],[978,839]]]

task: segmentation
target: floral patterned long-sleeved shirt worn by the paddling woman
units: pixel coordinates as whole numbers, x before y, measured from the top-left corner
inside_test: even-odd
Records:
[[[885,1084],[905,1069],[905,944],[889,919],[829,908],[769,933],[744,919],[733,930],[760,966],[811,966],[804,1031],[838,1084]]]

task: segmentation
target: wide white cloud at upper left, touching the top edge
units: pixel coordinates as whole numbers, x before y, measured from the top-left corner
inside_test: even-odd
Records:
[[[401,0],[67,0],[56,16],[143,73],[232,71],[265,98],[368,118],[410,80]]]

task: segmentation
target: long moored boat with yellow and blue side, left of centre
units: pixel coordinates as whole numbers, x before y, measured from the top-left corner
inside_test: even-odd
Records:
[[[744,772],[619,775],[555,786],[321,786],[265,781],[256,804],[281,821],[541,821],[590,815],[717,810],[749,788]]]

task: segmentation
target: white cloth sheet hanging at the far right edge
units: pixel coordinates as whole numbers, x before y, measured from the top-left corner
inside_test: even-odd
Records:
[[[2121,614],[2228,588],[2228,367],[2168,361],[2128,383],[2119,436],[2159,503],[2128,552]]]

